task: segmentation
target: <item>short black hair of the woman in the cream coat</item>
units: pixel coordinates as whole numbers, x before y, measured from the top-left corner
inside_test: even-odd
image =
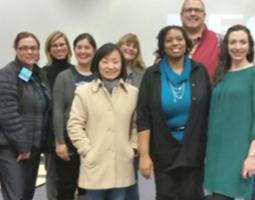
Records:
[[[96,77],[102,79],[102,76],[99,72],[99,62],[105,56],[109,55],[113,51],[119,52],[120,58],[121,58],[121,71],[120,71],[120,75],[116,79],[122,78],[123,80],[126,80],[127,72],[126,72],[126,67],[125,67],[124,56],[123,56],[121,50],[119,49],[119,47],[113,43],[106,43],[97,50],[97,52],[92,60],[91,71],[92,71],[92,73],[95,74]]]

